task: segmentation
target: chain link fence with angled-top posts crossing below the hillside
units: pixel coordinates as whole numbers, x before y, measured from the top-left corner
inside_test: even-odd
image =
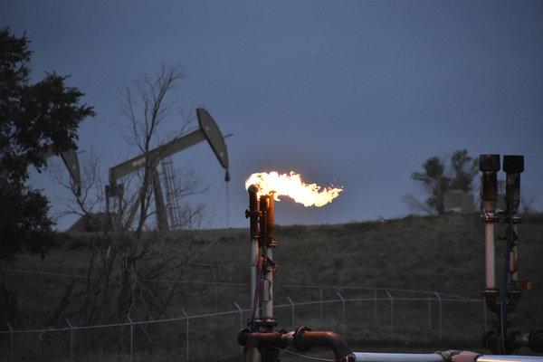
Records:
[[[212,312],[181,310],[178,318],[161,320],[126,316],[125,323],[101,326],[78,326],[66,319],[65,327],[56,329],[17,330],[8,325],[0,331],[0,360],[76,361],[90,355],[119,354],[120,359],[132,361],[138,353],[152,351],[169,351],[176,360],[186,361],[239,357],[241,347],[235,337],[239,329],[246,328],[251,315],[243,307],[249,306],[249,297],[240,294],[248,285],[205,284],[205,310]],[[436,291],[300,285],[276,285],[274,289],[279,328],[331,330],[349,345],[479,338],[487,329],[483,300]]]

